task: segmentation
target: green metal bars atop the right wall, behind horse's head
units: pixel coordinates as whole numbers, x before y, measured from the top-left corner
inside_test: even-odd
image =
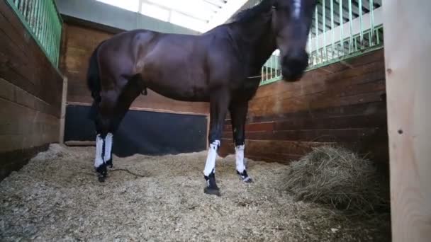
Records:
[[[306,71],[358,57],[384,47],[383,25],[375,25],[374,22],[374,9],[378,7],[381,7],[379,0],[319,0],[308,36],[308,50],[312,51],[309,52],[310,62]],[[366,13],[369,17],[369,28],[364,29]],[[357,34],[353,33],[355,20],[359,20]],[[347,37],[345,37],[345,25],[347,25]],[[336,27],[340,27],[340,30]],[[335,31],[339,31],[338,40],[335,40]],[[329,45],[326,41],[327,33],[330,38]],[[312,41],[313,38],[314,41]],[[319,46],[320,40],[323,40],[325,45]],[[262,67],[260,84],[266,85],[281,80],[279,67],[279,57],[272,55]]]

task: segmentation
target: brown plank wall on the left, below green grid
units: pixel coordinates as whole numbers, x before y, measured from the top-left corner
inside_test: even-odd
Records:
[[[0,1],[0,179],[58,142],[62,76]]]

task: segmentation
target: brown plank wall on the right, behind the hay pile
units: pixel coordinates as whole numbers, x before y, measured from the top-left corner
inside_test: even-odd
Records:
[[[261,86],[250,101],[245,153],[289,162],[310,147],[337,142],[388,161],[384,51],[306,72],[301,81]],[[232,154],[230,120],[221,155]]]

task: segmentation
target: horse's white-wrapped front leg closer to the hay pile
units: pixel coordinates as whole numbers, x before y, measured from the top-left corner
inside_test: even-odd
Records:
[[[235,163],[237,174],[245,183],[252,183],[252,178],[247,174],[244,163],[245,149],[245,120],[247,116],[248,102],[230,103],[230,121],[232,122],[233,139],[235,141]]]

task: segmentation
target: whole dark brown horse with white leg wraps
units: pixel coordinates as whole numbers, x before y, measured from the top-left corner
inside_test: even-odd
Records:
[[[101,42],[88,71],[99,180],[112,167],[113,133],[133,100],[150,88],[168,98],[210,103],[210,147],[203,171],[206,193],[220,194],[215,156],[228,110],[237,174],[251,182],[243,159],[248,102],[260,81],[256,76],[278,47],[284,80],[301,78],[308,65],[306,42],[315,4],[316,0],[263,0],[201,35],[132,30]]]

